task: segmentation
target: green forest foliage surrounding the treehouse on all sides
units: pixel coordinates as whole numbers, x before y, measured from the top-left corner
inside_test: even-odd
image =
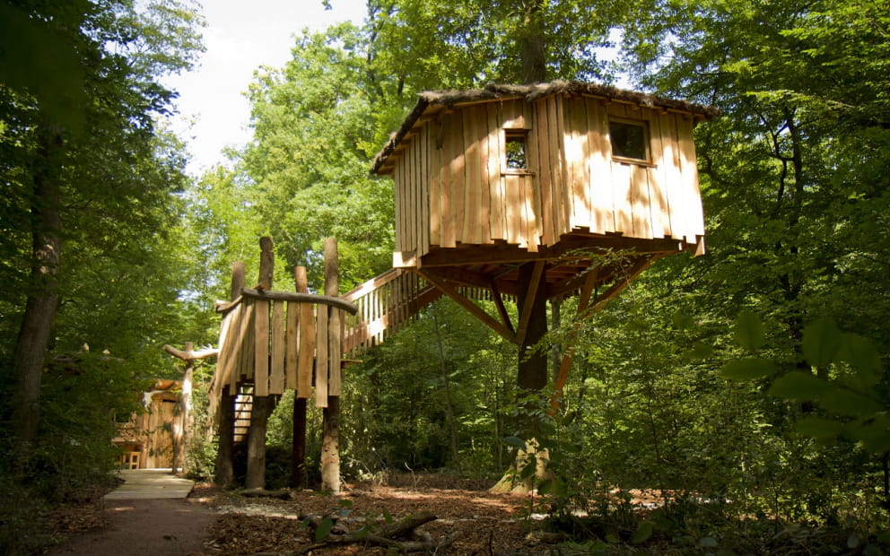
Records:
[[[18,327],[40,285],[30,274],[35,177],[57,180],[65,246],[46,361],[83,343],[114,359],[48,367],[36,447],[27,461],[3,459],[5,483],[86,481],[92,472],[73,477],[67,464],[87,447],[90,462],[109,461],[97,439],[109,410],[126,409],[131,373],[161,372],[158,343],[213,342],[210,304],[227,297],[233,261],[256,272],[258,236],[275,238],[276,289],[290,289],[294,265],[320,289],[327,236],[339,239],[342,290],[387,269],[391,185],[368,169],[414,93],[530,73],[611,83],[620,70],[636,89],[723,112],[696,128],[708,253],[659,261],[577,323],[563,404],[541,425],[553,479],[537,486],[551,498],[530,509],[574,534],[579,551],[886,552],[886,1],[369,0],[362,27],[303,33],[284,67],[257,72],[253,140],[193,184],[181,145],[154,118],[170,101],[156,77],[187,67],[196,48],[195,13],[74,3],[57,17],[76,24],[60,30],[45,20],[61,4],[25,4],[4,2],[0,15],[43,22],[16,40],[53,48],[60,71],[0,74],[0,371],[12,386]],[[10,51],[0,43],[0,55]],[[62,149],[47,142],[57,129]],[[551,308],[542,350],[565,348],[574,303],[560,318]],[[518,399],[516,347],[446,300],[362,358],[345,373],[350,477],[496,478],[522,444],[523,413],[545,415],[546,392],[541,410]],[[269,428],[282,450],[291,403]],[[310,457],[319,419],[310,414]],[[48,449],[63,437],[73,440]],[[195,442],[212,461],[213,445]],[[641,499],[659,509],[641,511]]]

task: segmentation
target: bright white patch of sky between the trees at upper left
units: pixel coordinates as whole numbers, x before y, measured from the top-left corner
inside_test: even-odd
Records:
[[[188,74],[167,80],[179,91],[174,130],[188,141],[188,171],[200,174],[225,161],[224,147],[250,139],[250,106],[244,91],[260,65],[282,67],[293,36],[304,28],[325,30],[336,22],[361,24],[365,0],[203,0],[206,52]]]

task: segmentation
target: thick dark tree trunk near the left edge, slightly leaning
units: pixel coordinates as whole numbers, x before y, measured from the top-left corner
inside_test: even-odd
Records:
[[[58,307],[57,273],[62,253],[59,233],[62,219],[59,213],[57,159],[61,149],[60,135],[47,130],[39,148],[39,169],[33,178],[31,289],[13,352],[16,376],[13,433],[24,442],[30,442],[37,436],[40,378],[43,376]]]

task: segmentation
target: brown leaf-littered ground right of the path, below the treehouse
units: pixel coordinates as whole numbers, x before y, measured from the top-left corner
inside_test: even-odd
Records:
[[[454,539],[437,554],[532,554],[540,547],[525,540],[528,523],[521,517],[528,499],[491,494],[478,482],[447,477],[414,477],[405,486],[355,483],[340,495],[294,491],[292,500],[241,499],[217,496],[220,516],[207,531],[205,547],[214,556],[256,553],[301,553],[315,543],[315,532],[304,517],[336,517],[350,533],[371,533],[402,517],[431,512],[435,521],[418,528],[434,543]],[[336,529],[335,533],[336,534]],[[383,547],[351,544],[326,546],[312,554],[388,554]]]

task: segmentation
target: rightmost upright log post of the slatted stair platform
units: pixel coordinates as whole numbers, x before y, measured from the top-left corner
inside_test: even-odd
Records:
[[[340,283],[338,274],[338,263],[336,254],[336,238],[325,239],[325,295],[338,296],[340,294]],[[328,308],[325,305],[318,305],[318,311],[334,311],[334,308]],[[319,319],[319,326],[320,326]],[[331,319],[336,326],[339,325],[339,318]],[[337,334],[337,337],[339,335]],[[318,347],[318,346],[316,346]],[[317,367],[317,373],[327,373],[328,378],[331,373],[340,373],[340,358],[342,346],[332,346],[336,352],[328,353],[329,361],[336,361],[336,369],[333,365],[327,368]],[[339,383],[339,376],[335,379]],[[322,440],[321,440],[321,488],[325,491],[340,491],[340,396],[328,395],[327,406],[322,409]]]

